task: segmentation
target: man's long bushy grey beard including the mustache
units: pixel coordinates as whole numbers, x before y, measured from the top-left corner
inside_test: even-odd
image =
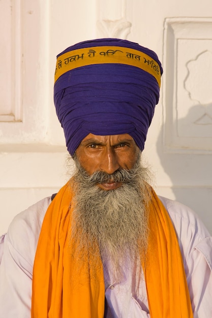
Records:
[[[133,169],[113,174],[95,172],[89,176],[75,157],[76,173],[72,179],[74,210],[71,238],[76,242],[75,257],[83,265],[84,250],[103,266],[110,264],[116,279],[120,279],[126,258],[139,261],[147,248],[148,213],[146,180],[148,171],[137,161]],[[122,182],[113,190],[103,190],[98,184]],[[80,229],[80,231],[79,231]]]

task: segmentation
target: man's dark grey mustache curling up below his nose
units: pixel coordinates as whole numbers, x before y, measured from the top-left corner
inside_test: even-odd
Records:
[[[90,186],[109,182],[133,183],[136,179],[138,169],[139,167],[136,164],[134,168],[130,170],[120,169],[114,171],[112,174],[108,174],[104,171],[96,171],[92,175],[88,175],[87,172],[82,167],[80,167],[79,174],[84,184]]]

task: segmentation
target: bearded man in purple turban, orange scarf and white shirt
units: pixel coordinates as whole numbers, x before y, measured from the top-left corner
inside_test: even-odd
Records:
[[[141,164],[161,74],[153,51],[126,40],[57,56],[54,103],[76,172],[10,225],[1,317],[212,316],[212,239]]]

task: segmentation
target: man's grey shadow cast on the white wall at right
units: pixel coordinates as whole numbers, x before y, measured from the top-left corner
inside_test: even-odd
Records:
[[[196,105],[186,117],[165,122],[157,152],[172,181],[175,200],[191,207],[212,233],[211,104],[208,108]]]

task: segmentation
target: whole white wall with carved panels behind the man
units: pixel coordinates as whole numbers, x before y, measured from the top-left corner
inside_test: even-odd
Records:
[[[0,2],[0,233],[15,214],[67,180],[53,105],[56,54],[118,37],[155,50],[161,99],[144,156],[161,195],[191,206],[212,233],[212,12],[210,0]]]

